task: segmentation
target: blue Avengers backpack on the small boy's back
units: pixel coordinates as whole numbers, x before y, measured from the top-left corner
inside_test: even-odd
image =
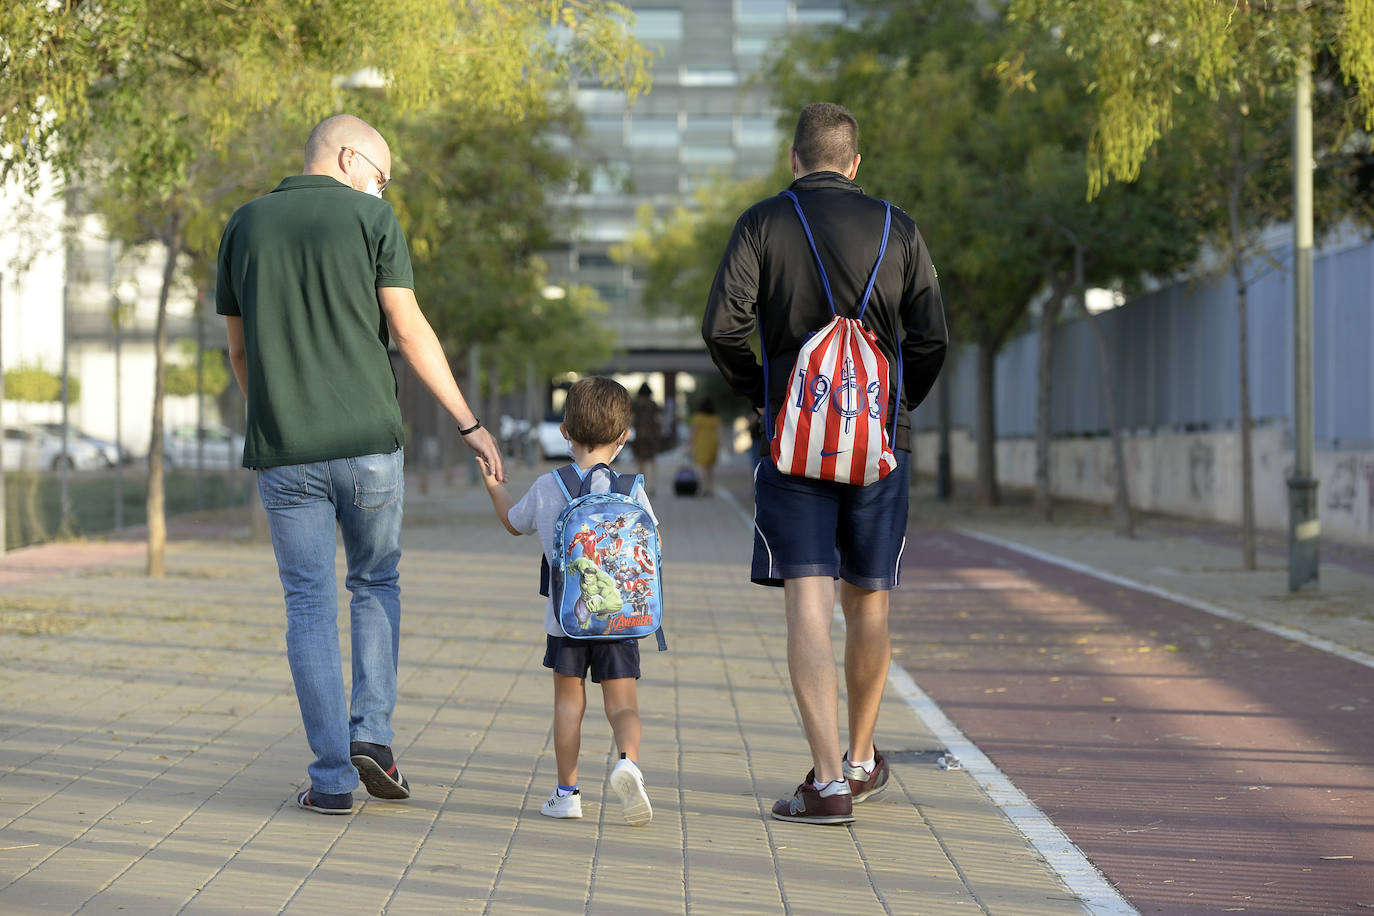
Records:
[[[610,490],[592,493],[592,475],[606,468]],[[664,639],[662,553],[649,511],[633,499],[638,474],[616,474],[596,464],[578,477],[558,468],[567,505],[554,522],[554,564],[540,567],[539,593],[552,597],[558,625],[578,640]]]

